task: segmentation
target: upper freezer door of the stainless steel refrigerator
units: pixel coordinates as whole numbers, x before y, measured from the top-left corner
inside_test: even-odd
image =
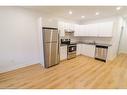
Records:
[[[44,43],[58,42],[58,30],[43,29]]]

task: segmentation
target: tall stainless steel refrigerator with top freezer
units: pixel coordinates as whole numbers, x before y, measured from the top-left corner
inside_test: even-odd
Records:
[[[44,65],[46,68],[59,64],[59,32],[57,28],[43,27]]]

